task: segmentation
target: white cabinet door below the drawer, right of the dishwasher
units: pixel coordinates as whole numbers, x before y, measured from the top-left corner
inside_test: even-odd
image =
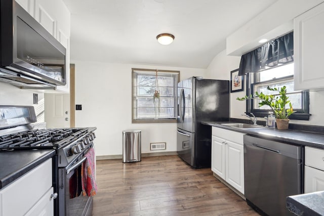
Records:
[[[305,166],[305,193],[324,191],[324,171]]]

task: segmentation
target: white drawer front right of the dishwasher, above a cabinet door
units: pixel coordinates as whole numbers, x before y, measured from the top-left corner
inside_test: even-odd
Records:
[[[306,146],[305,165],[324,170],[324,150]]]

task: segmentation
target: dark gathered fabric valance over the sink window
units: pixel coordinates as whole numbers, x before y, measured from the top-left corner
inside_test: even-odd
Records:
[[[294,61],[294,32],[267,42],[261,47],[242,55],[238,75],[259,72],[266,66]]]

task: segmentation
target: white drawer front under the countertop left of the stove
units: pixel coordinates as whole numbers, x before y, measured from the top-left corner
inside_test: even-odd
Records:
[[[0,190],[0,216],[24,215],[51,187],[52,158]]]

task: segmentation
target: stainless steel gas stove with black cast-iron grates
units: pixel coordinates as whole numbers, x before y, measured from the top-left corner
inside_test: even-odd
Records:
[[[32,106],[0,106],[0,151],[54,149],[55,215],[91,215],[92,197],[83,196],[75,185],[79,185],[86,154],[94,148],[96,127],[35,129],[34,122]]]

